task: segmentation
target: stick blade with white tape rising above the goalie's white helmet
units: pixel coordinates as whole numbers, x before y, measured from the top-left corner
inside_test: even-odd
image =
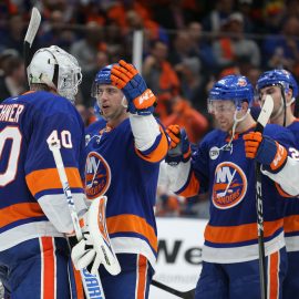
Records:
[[[34,38],[37,35],[37,32],[39,30],[40,23],[41,23],[41,14],[37,8],[33,8],[31,12],[28,30],[25,33],[25,38],[24,38],[24,43],[23,43],[25,73],[27,73],[27,68],[30,64],[30,58],[31,58],[30,50],[34,41]]]

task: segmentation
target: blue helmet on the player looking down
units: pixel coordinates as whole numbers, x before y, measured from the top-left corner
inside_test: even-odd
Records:
[[[244,75],[227,75],[217,81],[209,91],[208,107],[213,101],[233,101],[237,109],[246,101],[251,106],[254,87]]]

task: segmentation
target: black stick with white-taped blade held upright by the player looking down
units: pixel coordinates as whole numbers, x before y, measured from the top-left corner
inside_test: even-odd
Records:
[[[274,100],[270,95],[261,107],[257,120],[256,132],[262,134],[274,110]],[[258,254],[259,254],[259,277],[260,277],[260,298],[267,299],[267,280],[266,280],[266,258],[264,243],[264,213],[262,213],[262,194],[261,194],[261,172],[260,163],[255,163],[256,167],[256,206],[257,206],[257,227],[258,227]]]

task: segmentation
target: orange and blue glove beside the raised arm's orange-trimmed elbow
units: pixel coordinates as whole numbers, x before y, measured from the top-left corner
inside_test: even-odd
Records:
[[[171,165],[177,165],[179,162],[187,162],[190,158],[190,144],[185,128],[178,125],[169,125],[166,133],[171,140],[169,151],[165,162]]]

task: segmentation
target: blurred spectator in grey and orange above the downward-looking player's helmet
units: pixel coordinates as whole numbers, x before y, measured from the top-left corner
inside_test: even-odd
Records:
[[[219,68],[237,63],[238,60],[248,60],[259,66],[260,51],[254,40],[244,37],[244,18],[239,12],[231,13],[223,23],[223,37],[213,43],[213,51]]]

